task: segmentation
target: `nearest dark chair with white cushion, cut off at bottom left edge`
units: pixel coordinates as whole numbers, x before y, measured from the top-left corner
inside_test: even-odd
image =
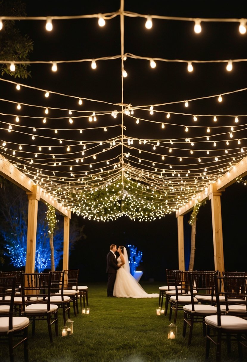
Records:
[[[0,339],[1,344],[9,347],[9,358],[14,362],[14,348],[24,345],[24,359],[28,362],[28,326],[27,317],[13,316],[16,276],[0,277]],[[17,339],[17,340],[16,340]]]

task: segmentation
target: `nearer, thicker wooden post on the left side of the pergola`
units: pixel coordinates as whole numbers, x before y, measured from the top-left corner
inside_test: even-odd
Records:
[[[35,268],[35,251],[36,251],[36,234],[37,234],[37,216],[39,188],[33,186],[33,192],[27,192],[28,195],[28,232],[26,245],[26,268],[25,273],[34,273]]]

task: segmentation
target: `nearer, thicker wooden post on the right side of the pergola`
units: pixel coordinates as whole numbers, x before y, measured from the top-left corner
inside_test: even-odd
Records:
[[[214,243],[214,269],[221,273],[225,271],[222,219],[221,219],[221,192],[217,191],[216,184],[211,184],[209,199],[212,208],[213,243]],[[224,190],[222,190],[224,191]]]

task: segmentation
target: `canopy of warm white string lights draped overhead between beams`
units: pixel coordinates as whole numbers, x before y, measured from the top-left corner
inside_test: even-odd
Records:
[[[104,51],[101,47],[97,52],[97,47],[93,47],[91,52],[85,52],[93,52],[93,57],[79,59],[74,50],[74,59],[60,60],[56,58],[54,43],[43,57],[49,60],[27,61],[32,74],[39,67],[46,67],[42,75],[46,87],[35,84],[33,75],[26,80],[0,78],[1,155],[72,212],[104,221],[121,215],[136,220],[161,218],[208,189],[210,183],[246,156],[247,114],[243,104],[247,88],[243,87],[245,72],[241,72],[247,59],[240,57],[245,55],[240,51],[246,49],[246,19],[140,14],[125,10],[122,0],[116,12],[3,16],[0,26],[4,28],[4,22],[9,20],[25,23],[27,32],[29,26],[42,28],[41,33],[45,27],[52,32],[58,26],[69,31],[66,22],[71,27],[80,22],[85,34],[85,23],[90,22],[98,31],[107,26],[114,34],[110,39],[109,33],[105,36],[105,44],[114,44],[112,48],[108,44]],[[155,24],[158,46],[149,49]],[[137,25],[141,30],[135,36],[133,29]],[[176,26],[179,36],[176,33],[172,38],[173,48],[168,56],[164,32],[173,31]],[[200,55],[194,57],[201,33],[210,27],[220,32],[214,35],[219,43],[223,33],[227,37],[234,29],[233,44],[241,43],[239,52],[222,44],[218,51],[198,52]],[[181,43],[188,28],[193,58],[188,58],[188,49],[186,58],[179,58],[184,55]],[[100,36],[104,38],[104,33]],[[134,43],[137,38],[138,44]],[[128,52],[135,46],[139,54]],[[202,47],[205,49],[205,45]],[[99,53],[110,49],[110,55],[100,57]],[[147,56],[143,56],[145,53]],[[238,58],[234,59],[235,54]],[[0,63],[8,64],[14,73],[15,67],[25,62],[5,59]],[[75,67],[78,72],[72,78],[74,84],[78,83],[76,94],[64,91],[71,82],[71,72],[62,71],[65,66]],[[236,87],[231,76],[235,67],[239,69],[235,78],[242,78],[240,87]],[[100,99],[92,97],[99,94],[94,72],[108,72]],[[218,73],[223,74],[225,82],[218,83]],[[61,75],[62,80],[56,81],[55,77]],[[63,84],[62,92],[59,84]]]

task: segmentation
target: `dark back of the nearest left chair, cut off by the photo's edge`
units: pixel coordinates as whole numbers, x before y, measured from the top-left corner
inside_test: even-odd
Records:
[[[9,306],[6,314],[1,313],[1,316],[9,317],[9,331],[13,330],[13,311],[14,311],[14,294],[16,289],[16,276],[0,277],[0,306]]]

